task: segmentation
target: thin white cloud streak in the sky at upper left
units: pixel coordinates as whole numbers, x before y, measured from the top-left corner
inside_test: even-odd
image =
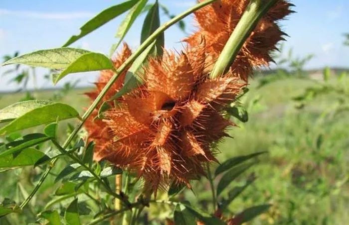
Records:
[[[10,15],[26,18],[37,19],[76,19],[76,18],[89,18],[95,13],[87,11],[72,11],[72,12],[41,12],[41,11],[24,11],[24,10],[8,10],[0,8],[0,16]]]

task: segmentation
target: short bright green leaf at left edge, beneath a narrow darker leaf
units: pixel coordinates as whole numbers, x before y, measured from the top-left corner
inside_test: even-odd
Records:
[[[32,166],[45,154],[35,148],[26,148],[19,154],[9,154],[0,157],[0,168]]]

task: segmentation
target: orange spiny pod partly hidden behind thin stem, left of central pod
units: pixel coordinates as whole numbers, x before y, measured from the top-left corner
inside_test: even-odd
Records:
[[[120,54],[116,56],[115,59],[113,59],[113,64],[115,68],[119,68],[128,57],[131,56],[131,50],[128,47],[126,43],[124,43],[123,49]],[[107,94],[104,96],[103,101],[108,101],[110,98],[118,92],[122,86],[123,82],[126,76],[126,71],[121,73],[116,80],[116,82],[113,84],[111,89],[107,92]],[[85,93],[92,101],[94,101],[97,96],[101,93],[102,89],[105,87],[105,85],[108,83],[108,81],[112,78],[114,75],[114,72],[111,70],[104,70],[101,72],[98,81],[95,83],[96,90]],[[110,128],[106,126],[106,123],[103,122],[100,119],[95,119],[97,116],[98,110],[95,110],[91,116],[86,120],[85,122],[85,129],[88,132],[88,141],[94,141],[95,142],[95,150],[94,150],[94,159],[99,161],[102,159],[99,155],[100,152],[105,151],[106,148],[109,148],[113,136],[111,135]]]

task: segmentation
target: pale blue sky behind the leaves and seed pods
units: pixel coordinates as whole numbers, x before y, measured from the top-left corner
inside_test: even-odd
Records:
[[[20,51],[27,53],[34,50],[61,46],[71,35],[79,32],[79,27],[89,18],[104,8],[120,3],[122,0],[1,0],[0,3],[0,56]],[[150,0],[152,2],[154,0]],[[160,0],[170,11],[177,14],[192,6],[194,0]],[[314,54],[308,68],[324,66],[349,66],[349,47],[343,46],[343,33],[349,32],[348,0],[292,0],[297,13],[281,22],[283,30],[290,37],[285,48],[293,48],[295,56]],[[144,16],[136,21],[126,40],[132,48],[139,45],[140,30]],[[111,21],[99,30],[89,34],[73,47],[82,47],[91,51],[108,53],[117,27],[123,16]],[[162,16],[162,22],[168,20]],[[191,16],[185,20],[187,31],[194,30]],[[180,49],[179,42],[185,34],[177,27],[166,33],[166,47]],[[5,71],[6,68],[0,68]],[[42,76],[44,70],[38,70]],[[70,75],[83,78],[83,85],[95,80],[95,73]],[[7,79],[1,77],[0,91],[11,90]],[[39,79],[40,83],[40,79]],[[41,84],[42,86],[43,84]],[[50,87],[44,85],[44,87]]]

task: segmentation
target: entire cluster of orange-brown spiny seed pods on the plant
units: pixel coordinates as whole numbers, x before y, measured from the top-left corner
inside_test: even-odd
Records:
[[[205,165],[215,161],[212,145],[226,136],[233,123],[224,116],[246,85],[254,67],[267,66],[284,33],[276,21],[291,12],[284,0],[262,18],[237,59],[224,76],[209,79],[212,64],[233,32],[249,0],[218,0],[195,12],[198,30],[185,39],[180,54],[165,51],[150,58],[140,75],[143,84],[110,103],[104,119],[86,122],[89,140],[96,143],[95,159],[107,159],[118,167],[143,177],[146,187],[156,191],[170,183],[184,183],[205,174]],[[124,45],[115,67],[130,56]],[[112,77],[103,71],[97,89],[88,93],[94,100]],[[109,100],[121,89],[124,72],[105,96]]]

